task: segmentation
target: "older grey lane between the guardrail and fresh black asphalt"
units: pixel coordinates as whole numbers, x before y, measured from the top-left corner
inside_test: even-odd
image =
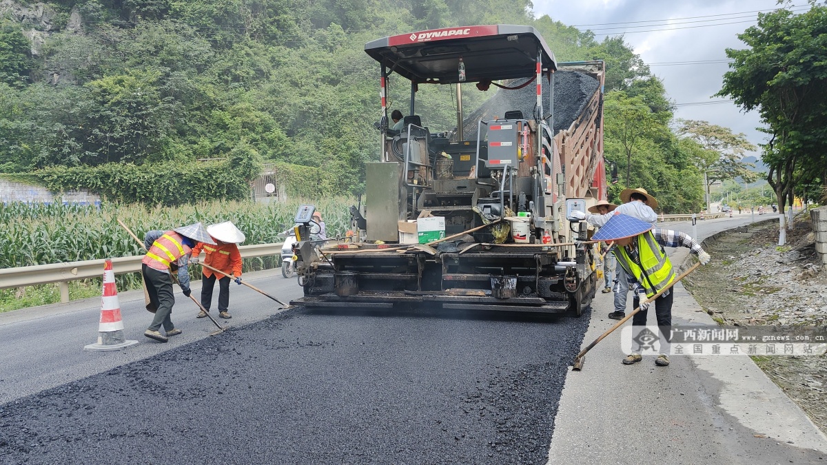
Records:
[[[103,270],[101,272],[103,274]],[[248,273],[245,279],[282,302],[301,296],[296,279],[285,280],[280,271]],[[195,281],[193,295],[200,295],[200,289],[200,281]],[[143,335],[152,318],[144,309],[143,293],[129,291],[119,295],[124,333],[127,339],[136,339],[140,344],[117,352],[83,351],[86,344],[98,338],[99,298],[0,314],[0,404],[152,357],[207,338],[218,329],[209,319],[195,319],[198,308],[180,293],[178,286],[175,291],[172,320],[184,333],[166,344],[155,343]],[[218,290],[215,290],[213,305],[217,300]],[[278,307],[273,300],[246,286],[232,285],[230,313],[233,317],[216,319],[222,325],[237,327],[275,314]]]

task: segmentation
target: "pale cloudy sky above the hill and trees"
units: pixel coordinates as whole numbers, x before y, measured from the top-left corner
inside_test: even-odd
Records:
[[[728,98],[713,95],[729,70],[725,50],[747,48],[737,35],[757,23],[758,11],[777,8],[776,0],[533,0],[533,6],[535,17],[548,15],[567,26],[591,30],[598,41],[624,36],[662,80],[676,103],[676,118],[729,127],[753,144],[767,140],[756,129],[761,126],[758,113],[743,113],[734,103],[720,102]],[[807,3],[795,0],[791,9],[807,9]]]

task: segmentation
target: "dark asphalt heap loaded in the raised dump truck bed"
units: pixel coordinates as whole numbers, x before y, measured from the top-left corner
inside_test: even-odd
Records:
[[[554,133],[561,129],[568,129],[571,123],[580,116],[586,103],[600,87],[600,82],[588,74],[578,71],[558,70],[554,76]],[[516,87],[528,79],[517,79],[509,84]],[[523,117],[533,119],[534,108],[537,105],[537,86],[528,84],[523,89],[497,89],[493,97],[486,100],[480,108],[466,117],[462,130],[466,141],[476,140],[477,122],[490,121],[495,117],[504,117],[505,112],[520,110]],[[551,92],[548,81],[543,78],[543,113],[547,116],[552,109],[548,106],[548,95]]]

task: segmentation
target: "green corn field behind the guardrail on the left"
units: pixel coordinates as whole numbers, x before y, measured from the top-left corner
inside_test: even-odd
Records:
[[[138,237],[151,229],[163,231],[201,222],[205,226],[232,221],[246,235],[244,244],[281,242],[280,232],[293,226],[299,204],[315,204],[327,235],[344,235],[350,228],[348,208],[355,199],[294,200],[283,204],[242,201],[161,207],[146,204],[0,204],[0,268],[143,255],[144,251],[117,218]],[[280,266],[280,256],[245,259],[244,271]],[[194,271],[191,269],[191,271]],[[199,279],[198,272],[192,273]],[[141,286],[139,273],[118,276],[118,289]]]

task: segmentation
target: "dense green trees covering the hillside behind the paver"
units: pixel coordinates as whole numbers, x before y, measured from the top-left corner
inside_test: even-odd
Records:
[[[628,183],[667,213],[701,204],[696,161],[705,149],[670,130],[672,104],[648,66],[622,37],[596,41],[533,17],[526,0],[11,5],[0,7],[0,172],[34,173],[51,189],[163,204],[243,199],[267,162],[289,174],[293,194],[361,193],[364,163],[379,156],[380,113],[379,69],[364,44],[509,23],[538,28],[557,60],[606,61],[605,151],[623,174],[614,197]],[[429,125],[454,127],[450,92],[424,88],[418,108],[433,115]],[[466,113],[487,97],[475,94]],[[408,98],[402,79],[391,79],[393,108]]]

